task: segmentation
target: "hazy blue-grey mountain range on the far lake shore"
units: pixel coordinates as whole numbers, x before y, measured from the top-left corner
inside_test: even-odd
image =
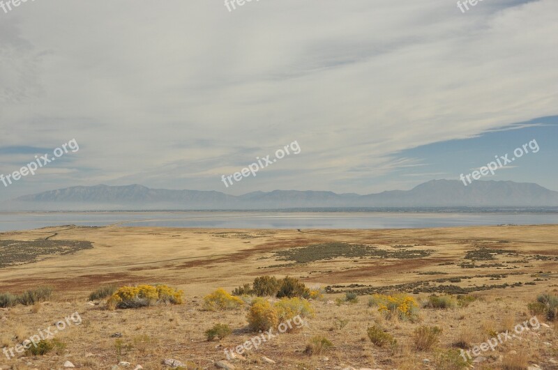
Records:
[[[558,206],[558,192],[532,183],[432,180],[412,190],[379,194],[274,190],[241,196],[215,191],[150,189],[142,185],[76,186],[20,196],[17,210],[215,210],[347,207],[543,207]]]

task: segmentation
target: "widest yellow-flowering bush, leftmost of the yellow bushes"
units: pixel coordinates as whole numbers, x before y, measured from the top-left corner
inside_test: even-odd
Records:
[[[181,305],[183,291],[176,291],[166,285],[122,286],[107,300],[110,309],[129,309],[172,303]]]

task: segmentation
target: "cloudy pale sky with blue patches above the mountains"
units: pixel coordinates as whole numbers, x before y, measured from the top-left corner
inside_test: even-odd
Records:
[[[537,153],[483,179],[558,191],[557,15],[555,0],[484,0],[465,12],[449,0],[0,8],[0,174],[79,146],[0,183],[0,201],[135,183],[409,190],[458,180],[531,140]],[[295,141],[300,153],[223,182]]]

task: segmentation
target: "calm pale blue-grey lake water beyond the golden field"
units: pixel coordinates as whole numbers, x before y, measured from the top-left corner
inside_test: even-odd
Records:
[[[264,211],[0,213],[0,231],[68,224],[223,229],[415,229],[498,224],[558,224],[558,213]]]

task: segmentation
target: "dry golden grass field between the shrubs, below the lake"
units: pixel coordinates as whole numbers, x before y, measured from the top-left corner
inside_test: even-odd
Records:
[[[73,312],[82,318],[81,325],[56,334],[63,350],[10,360],[0,353],[0,369],[62,369],[66,361],[82,369],[112,369],[120,361],[130,362],[128,369],[169,369],[165,359],[179,360],[184,369],[217,369],[223,348],[257,333],[247,328],[248,305],[206,311],[204,295],[216,288],[230,292],[262,275],[296,277],[310,288],[329,287],[329,293],[311,300],[315,316],[308,327],[230,360],[235,369],[451,369],[443,357],[455,343],[470,348],[490,333],[513,330],[531,318],[527,304],[538,294],[557,294],[557,236],[558,225],[302,231],[59,226],[0,233],[0,253],[2,245],[12,251],[0,254],[0,293],[54,287],[48,302],[0,308],[0,348]],[[48,253],[68,241],[92,247]],[[34,245],[44,253],[33,254]],[[113,311],[104,300],[88,303],[89,293],[104,284],[167,284],[184,291],[184,304]],[[359,301],[335,302],[347,291],[358,293]],[[418,302],[444,292],[477,299],[467,307],[421,308],[416,320],[404,321],[368,306],[377,292],[407,293]],[[469,367],[558,369],[556,323],[540,315],[538,321],[548,327],[483,351]],[[207,341],[204,332],[216,323],[233,332]],[[397,347],[372,344],[367,327],[375,324],[397,339]],[[413,345],[412,333],[421,325],[442,328],[428,350]],[[329,352],[304,353],[315,336],[331,341]]]

